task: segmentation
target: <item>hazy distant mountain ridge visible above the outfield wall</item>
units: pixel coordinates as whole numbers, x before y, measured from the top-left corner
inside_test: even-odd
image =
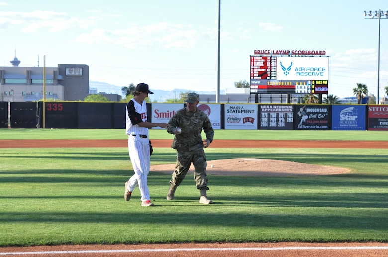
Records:
[[[106,93],[106,94],[117,94],[122,95],[121,87],[116,85],[111,85],[104,82],[98,81],[89,81],[89,90],[97,90],[97,93]],[[155,90],[151,88],[151,91],[154,94],[149,94],[148,97],[152,102],[164,102],[166,99],[178,98],[180,93],[187,91],[195,91],[199,95],[215,95],[215,91],[196,91],[196,90],[187,90],[187,89],[173,89],[173,90]],[[223,91],[223,90],[221,90]],[[220,92],[223,94],[223,92]]]

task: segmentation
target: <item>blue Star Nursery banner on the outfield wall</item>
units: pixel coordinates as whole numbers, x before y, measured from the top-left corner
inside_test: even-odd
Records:
[[[333,105],[332,130],[365,130],[365,105]]]

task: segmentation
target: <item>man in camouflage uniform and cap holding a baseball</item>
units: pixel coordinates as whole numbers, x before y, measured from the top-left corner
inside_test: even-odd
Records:
[[[175,134],[172,148],[177,150],[177,163],[175,171],[170,180],[170,189],[167,193],[167,200],[174,199],[174,193],[186,176],[191,164],[194,165],[194,179],[196,188],[200,190],[201,197],[199,203],[211,204],[207,198],[207,174],[206,174],[206,155],[203,148],[207,148],[214,138],[214,130],[211,126],[209,117],[197,108],[199,95],[190,93],[185,100],[186,107],[177,111],[170,119],[171,125],[167,131]],[[181,128],[182,132],[176,131]],[[202,128],[206,133],[206,139],[202,140]]]

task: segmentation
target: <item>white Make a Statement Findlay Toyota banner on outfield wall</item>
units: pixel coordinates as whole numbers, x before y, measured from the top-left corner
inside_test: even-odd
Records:
[[[258,105],[225,104],[225,129],[257,129]]]

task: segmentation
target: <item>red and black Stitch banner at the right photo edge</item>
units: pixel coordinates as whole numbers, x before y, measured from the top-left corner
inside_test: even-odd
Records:
[[[368,105],[368,130],[388,130],[388,105]]]

